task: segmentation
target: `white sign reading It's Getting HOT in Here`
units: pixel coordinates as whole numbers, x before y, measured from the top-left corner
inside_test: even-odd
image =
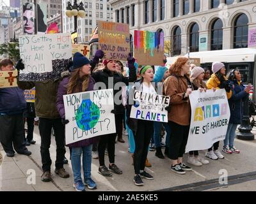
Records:
[[[21,74],[52,71],[52,60],[72,57],[71,34],[34,34],[19,37]]]

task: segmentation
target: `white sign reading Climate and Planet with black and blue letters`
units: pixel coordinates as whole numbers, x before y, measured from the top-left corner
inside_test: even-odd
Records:
[[[132,105],[131,118],[168,122],[168,112],[165,108],[170,103],[170,97],[134,91],[133,99],[136,105]]]

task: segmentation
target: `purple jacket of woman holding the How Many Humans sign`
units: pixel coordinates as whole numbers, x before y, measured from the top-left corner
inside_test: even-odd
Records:
[[[57,92],[56,105],[57,105],[58,112],[60,113],[60,116],[62,119],[65,119],[65,108],[64,108],[63,95],[67,94],[67,85],[68,85],[69,79],[70,79],[70,77],[63,78],[63,80],[60,82],[60,85],[58,87],[58,92]],[[79,83],[80,83],[80,87],[81,87],[80,90],[82,91],[82,82],[79,82]],[[92,77],[90,77],[88,89],[86,91],[93,91],[94,84],[95,84],[95,80]],[[68,147],[85,147],[92,143],[96,143],[98,141],[99,141],[99,137],[96,136],[93,138],[88,138],[88,139],[81,140],[78,142],[70,143],[67,146]]]

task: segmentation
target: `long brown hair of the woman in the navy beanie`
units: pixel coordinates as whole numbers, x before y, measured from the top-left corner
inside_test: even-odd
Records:
[[[86,91],[88,88],[89,84],[89,75],[84,75],[82,78],[79,77],[79,71],[81,68],[76,69],[75,71],[72,72],[72,75],[69,79],[68,85],[67,85],[67,94],[73,94],[80,92],[80,87],[79,87],[79,80],[81,80],[82,83],[82,92]]]

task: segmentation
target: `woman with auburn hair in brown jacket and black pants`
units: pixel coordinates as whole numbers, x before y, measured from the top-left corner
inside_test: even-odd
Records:
[[[164,81],[164,93],[170,96],[171,110],[168,113],[168,124],[171,129],[170,135],[170,159],[172,159],[171,170],[185,174],[192,169],[183,163],[188,142],[191,108],[189,94],[192,92],[192,84],[188,77],[188,57],[178,57],[173,68],[170,69],[170,77]]]

